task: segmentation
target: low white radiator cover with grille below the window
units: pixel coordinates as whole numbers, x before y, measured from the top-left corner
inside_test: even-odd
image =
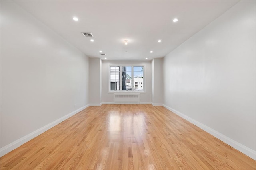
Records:
[[[114,104],[140,104],[140,94],[114,93]]]

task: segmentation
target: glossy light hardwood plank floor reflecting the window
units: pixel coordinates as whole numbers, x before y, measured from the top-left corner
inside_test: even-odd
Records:
[[[91,106],[1,157],[17,169],[256,169],[256,161],[162,106]]]

